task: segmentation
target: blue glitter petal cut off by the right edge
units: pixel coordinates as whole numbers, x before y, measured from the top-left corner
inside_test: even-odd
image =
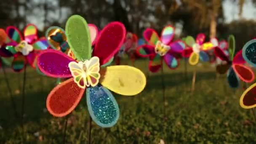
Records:
[[[256,67],[256,40],[250,40],[243,46],[243,58]]]

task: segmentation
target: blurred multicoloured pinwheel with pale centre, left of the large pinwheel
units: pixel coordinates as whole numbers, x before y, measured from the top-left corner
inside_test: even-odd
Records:
[[[5,46],[9,52],[2,51],[0,55],[3,57],[14,57],[12,61],[13,70],[20,72],[24,69],[27,62],[36,68],[35,60],[38,53],[49,47],[44,37],[38,39],[37,27],[33,24],[28,24],[24,29],[24,39],[21,32],[13,26],[7,27],[6,34],[8,37],[5,40]]]

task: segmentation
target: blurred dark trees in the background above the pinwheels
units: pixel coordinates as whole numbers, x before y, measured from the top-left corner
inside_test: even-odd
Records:
[[[231,5],[224,7],[225,2],[237,6],[238,19],[226,22],[224,9]],[[241,48],[255,37],[256,22],[243,16],[248,2],[256,4],[256,0],[5,0],[0,3],[0,27],[15,25],[23,29],[34,23],[43,35],[48,27],[64,27],[69,16],[79,14],[99,28],[110,21],[121,21],[139,37],[146,27],[160,32],[167,24],[176,27],[177,37],[203,32],[227,39],[234,34]],[[229,13],[229,17],[233,15]]]

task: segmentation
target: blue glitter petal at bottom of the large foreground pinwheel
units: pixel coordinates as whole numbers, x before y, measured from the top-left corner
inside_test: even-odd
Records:
[[[119,118],[119,108],[112,93],[102,85],[87,88],[86,99],[92,120],[103,128],[112,127]]]

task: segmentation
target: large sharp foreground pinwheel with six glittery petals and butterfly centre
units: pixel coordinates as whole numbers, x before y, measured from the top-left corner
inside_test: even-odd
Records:
[[[122,23],[108,24],[99,34],[91,52],[91,36],[85,19],[75,15],[67,20],[67,41],[77,60],[60,51],[48,49],[40,53],[37,61],[45,75],[71,77],[53,88],[48,95],[46,106],[52,115],[68,115],[85,94],[88,111],[95,123],[101,127],[111,127],[117,123],[119,108],[109,90],[133,96],[146,85],[146,77],[139,69],[130,66],[102,67],[119,51],[125,31]]]

